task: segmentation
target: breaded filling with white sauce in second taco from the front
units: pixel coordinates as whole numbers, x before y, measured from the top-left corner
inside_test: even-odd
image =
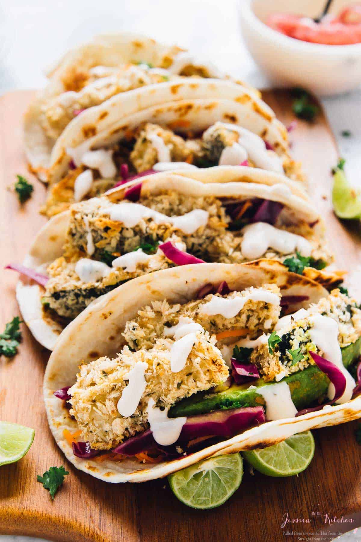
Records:
[[[73,319],[121,283],[175,264],[301,257],[321,269],[332,261],[321,225],[278,202],[139,192],[72,205],[64,254],[47,270],[46,310]]]

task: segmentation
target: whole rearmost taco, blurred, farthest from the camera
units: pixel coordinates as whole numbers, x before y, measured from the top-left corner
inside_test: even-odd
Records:
[[[84,109],[164,81],[227,77],[184,49],[129,33],[94,37],[65,54],[47,75],[48,85],[36,94],[24,119],[27,158],[42,180],[56,139]],[[250,92],[258,95],[255,89]]]

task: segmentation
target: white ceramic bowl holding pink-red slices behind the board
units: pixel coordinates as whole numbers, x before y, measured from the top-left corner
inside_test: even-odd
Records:
[[[253,59],[277,86],[300,86],[318,95],[351,91],[361,83],[361,44],[321,45],[267,27],[272,13],[318,17],[325,0],[239,0],[241,29]],[[338,14],[352,0],[334,0]]]

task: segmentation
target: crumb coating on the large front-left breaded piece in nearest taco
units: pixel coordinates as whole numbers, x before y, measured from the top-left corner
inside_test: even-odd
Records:
[[[214,346],[215,337],[207,331],[196,334],[196,341],[185,367],[170,371],[171,339],[158,339],[150,350],[132,352],[124,346],[115,358],[100,358],[80,367],[71,394],[70,415],[74,416],[84,440],[91,448],[109,450],[124,438],[148,428],[147,405],[153,398],[156,405],[167,408],[179,399],[198,391],[208,390],[228,378],[228,367]],[[123,417],[117,410],[122,390],[127,384],[124,376],[137,362],[146,362],[146,390],[136,411]]]

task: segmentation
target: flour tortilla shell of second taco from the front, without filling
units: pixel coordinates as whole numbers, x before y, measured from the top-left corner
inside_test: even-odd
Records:
[[[255,167],[218,166],[206,171],[207,176],[205,170],[189,169],[179,170],[176,173],[169,171],[154,173],[141,178],[141,192],[157,195],[162,191],[174,190],[189,196],[270,199],[291,208],[301,220],[306,222],[319,220],[315,228],[323,230],[324,226],[316,209],[305,192],[292,180]],[[209,182],[206,182],[207,179]],[[107,197],[112,202],[121,201],[126,190],[138,183],[139,180],[136,179],[121,185],[109,191]],[[44,273],[51,262],[63,255],[69,221],[70,211],[65,211],[52,217],[43,226],[23,262],[26,267]],[[284,266],[281,267],[285,269]],[[337,273],[312,268],[305,269],[305,274],[328,289],[342,280]],[[41,286],[21,277],[16,289],[17,301],[31,333],[43,346],[53,350],[63,326],[43,311],[42,292]]]

